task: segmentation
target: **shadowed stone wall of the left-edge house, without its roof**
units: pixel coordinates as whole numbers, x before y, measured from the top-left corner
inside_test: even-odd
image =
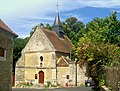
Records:
[[[13,38],[0,30],[0,47],[6,49],[5,60],[0,59],[0,91],[12,91]]]

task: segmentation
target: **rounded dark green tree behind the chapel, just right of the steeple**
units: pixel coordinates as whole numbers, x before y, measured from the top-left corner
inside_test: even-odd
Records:
[[[77,18],[71,17],[62,23],[65,35],[72,41],[73,44],[77,44],[79,38],[83,36],[85,25],[83,22],[78,21]]]

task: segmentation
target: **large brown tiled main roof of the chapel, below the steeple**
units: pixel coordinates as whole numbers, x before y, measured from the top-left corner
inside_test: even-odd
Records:
[[[70,53],[72,49],[72,43],[67,36],[60,38],[55,32],[41,28],[47,38],[50,40],[55,50],[58,52]]]

